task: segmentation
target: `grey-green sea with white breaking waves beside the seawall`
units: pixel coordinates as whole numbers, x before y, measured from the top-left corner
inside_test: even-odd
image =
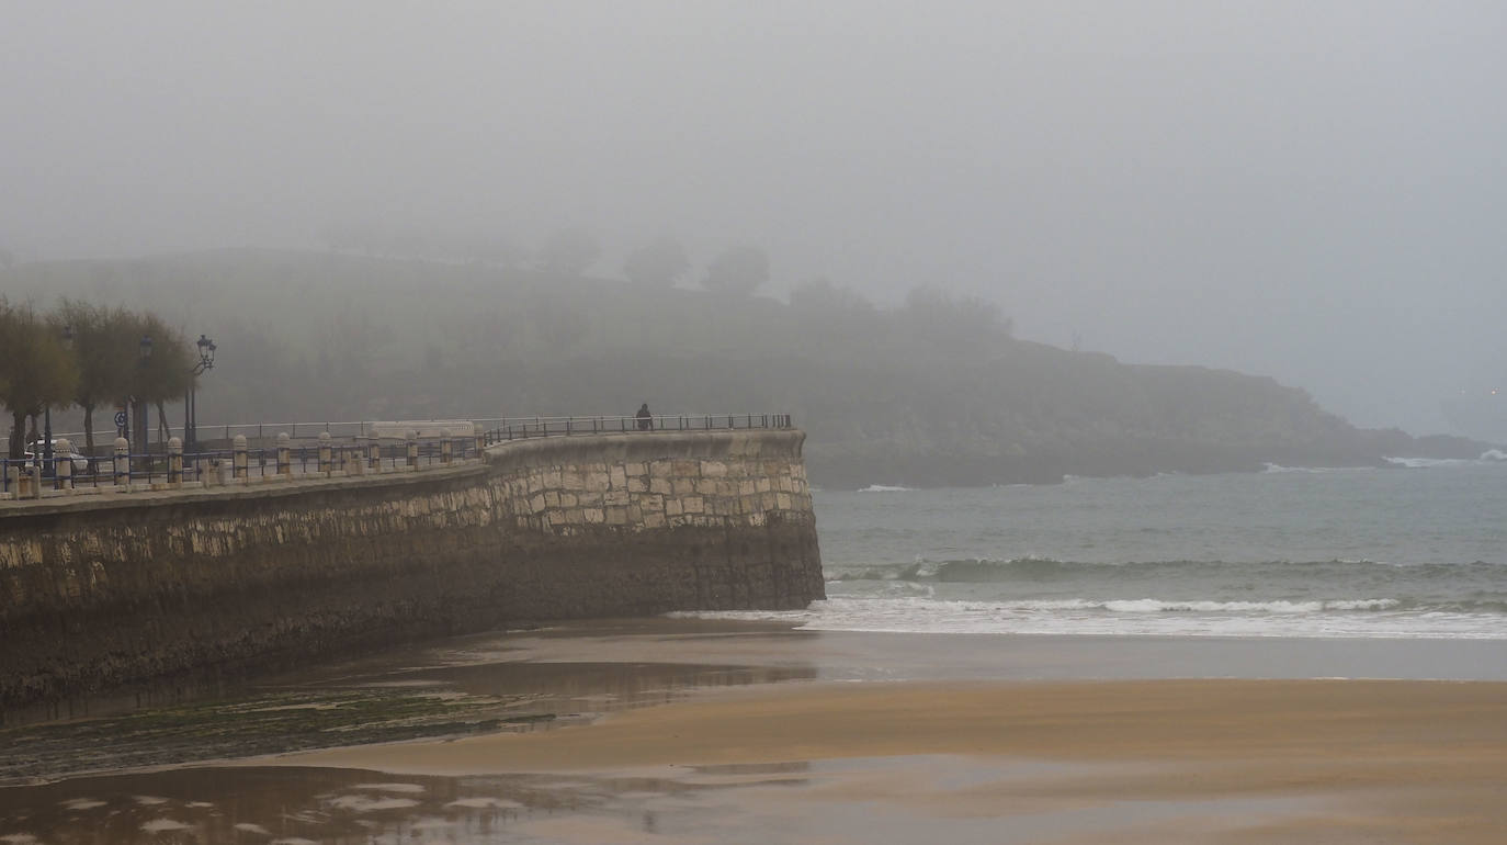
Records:
[[[1507,640],[1507,460],[814,495],[817,631]]]

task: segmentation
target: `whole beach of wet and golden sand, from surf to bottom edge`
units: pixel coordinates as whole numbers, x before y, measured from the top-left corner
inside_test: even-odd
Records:
[[[494,634],[298,684],[580,718],[0,791],[0,839],[1495,843],[1504,665],[1460,641]]]

